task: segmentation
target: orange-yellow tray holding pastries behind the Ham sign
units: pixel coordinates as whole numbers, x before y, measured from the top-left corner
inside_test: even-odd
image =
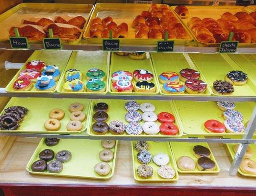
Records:
[[[91,4],[66,4],[66,3],[20,3],[15,7],[0,15],[1,35],[0,42],[9,42],[9,28],[13,25],[20,25],[22,19],[29,17],[51,17],[55,15],[71,14],[81,15],[86,19],[86,23],[81,29],[81,34],[77,40],[62,41],[64,45],[77,45],[82,38],[83,31],[88,24],[89,17],[93,10]],[[29,40],[30,44],[42,44],[39,40]]]

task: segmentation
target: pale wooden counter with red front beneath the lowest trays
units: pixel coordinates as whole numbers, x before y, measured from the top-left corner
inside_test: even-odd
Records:
[[[3,188],[6,196],[34,193],[31,191],[33,190],[31,186],[37,187],[36,190],[44,190],[42,186],[48,186],[47,189],[49,189],[49,186],[52,186],[54,187],[54,190],[58,190],[57,192],[61,196],[65,196],[68,193],[66,189],[69,189],[69,191],[72,190],[67,194],[71,196],[72,193],[74,193],[73,189],[78,191],[86,188],[86,192],[89,193],[89,190],[91,190],[92,192],[90,193],[95,194],[101,193],[100,188],[102,187],[104,187],[104,189],[110,189],[110,191],[116,189],[128,189],[128,191],[124,193],[125,195],[128,194],[129,191],[132,193],[132,190],[135,190],[134,188],[136,188],[137,192],[142,189],[143,193],[149,192],[150,195],[153,193],[157,193],[158,195],[162,191],[167,193],[169,190],[172,190],[172,193],[178,191],[179,196],[187,194],[189,194],[189,196],[194,196],[194,194],[195,196],[198,196],[199,192],[201,194],[203,192],[208,192],[207,196],[216,196],[216,192],[225,193],[225,196],[234,196],[234,193],[238,194],[240,192],[246,192],[246,196],[250,196],[251,194],[255,195],[256,193],[255,178],[244,177],[239,173],[235,177],[229,176],[228,171],[231,159],[228,155],[227,147],[224,144],[210,144],[220,167],[220,172],[218,174],[179,174],[179,180],[176,182],[139,183],[133,179],[131,148],[129,142],[121,141],[119,143],[116,169],[113,177],[109,180],[100,181],[82,178],[34,175],[26,172],[26,164],[39,141],[40,138],[0,138],[0,187]],[[21,187],[23,188],[21,189]],[[150,192],[152,188],[155,192]],[[182,194],[180,192],[181,188]],[[208,191],[209,189],[211,189],[210,192]],[[97,190],[99,192],[97,192]],[[45,192],[42,193],[41,191],[36,195],[41,196],[41,194],[42,196],[45,196]],[[56,193],[54,192],[53,195],[56,196]],[[139,195],[142,196],[141,194]]]

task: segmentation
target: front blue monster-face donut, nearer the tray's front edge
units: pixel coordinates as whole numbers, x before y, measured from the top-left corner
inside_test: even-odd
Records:
[[[35,88],[38,91],[53,91],[56,87],[51,75],[41,75],[37,78]]]

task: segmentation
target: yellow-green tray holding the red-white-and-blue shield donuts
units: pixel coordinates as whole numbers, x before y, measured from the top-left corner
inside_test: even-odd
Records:
[[[111,54],[111,64],[110,64],[110,74],[109,74],[109,86],[108,86],[108,92],[113,95],[157,95],[159,93],[158,85],[157,85],[157,79],[156,75],[154,74],[154,68],[152,61],[149,58],[145,58],[143,60],[133,60],[129,58],[129,56],[120,56],[112,52]],[[123,70],[123,71],[129,71],[130,73],[133,73],[133,71],[137,69],[145,69],[149,70],[154,74],[154,78],[152,82],[155,85],[155,92],[154,93],[143,93],[143,92],[114,92],[111,89],[112,86],[112,80],[111,75],[112,73]],[[132,81],[133,86],[135,85],[136,81],[133,79]]]

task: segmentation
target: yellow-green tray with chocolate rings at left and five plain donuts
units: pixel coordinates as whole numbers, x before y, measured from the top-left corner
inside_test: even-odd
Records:
[[[68,131],[66,129],[67,123],[71,120],[69,116],[71,112],[69,111],[69,105],[73,102],[80,102],[83,104],[83,112],[86,114],[86,120],[82,122],[83,127],[80,131]],[[47,133],[47,134],[77,134],[82,133],[87,128],[87,123],[89,121],[90,112],[90,99],[74,99],[74,98],[11,98],[7,105],[10,106],[23,106],[28,109],[27,115],[24,117],[23,121],[20,123],[18,130],[0,130],[2,133]],[[47,131],[44,127],[44,123],[49,118],[49,113],[54,108],[60,108],[64,110],[65,116],[60,120],[60,129],[58,131]],[[4,113],[4,109],[0,113]]]

